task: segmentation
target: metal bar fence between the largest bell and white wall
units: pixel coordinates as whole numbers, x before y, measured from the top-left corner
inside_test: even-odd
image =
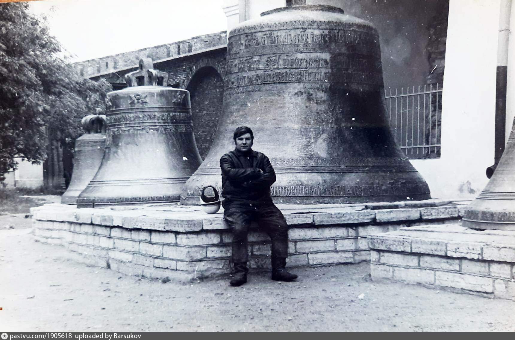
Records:
[[[439,84],[385,90],[390,126],[410,158],[440,157],[441,99]]]

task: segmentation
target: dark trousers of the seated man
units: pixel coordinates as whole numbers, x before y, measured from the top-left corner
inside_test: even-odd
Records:
[[[272,241],[272,258],[288,257],[288,224],[283,214],[273,203],[251,205],[231,204],[225,207],[224,218],[232,229],[232,260],[234,263],[247,262],[248,232],[252,221]]]

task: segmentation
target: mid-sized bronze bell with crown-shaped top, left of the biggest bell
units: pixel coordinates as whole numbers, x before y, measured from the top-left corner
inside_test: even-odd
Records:
[[[167,87],[167,78],[142,59],[128,87],[108,93],[106,152],[78,207],[179,201],[202,160],[190,93]]]

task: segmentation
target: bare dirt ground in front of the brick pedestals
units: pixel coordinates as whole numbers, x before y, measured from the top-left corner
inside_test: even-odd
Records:
[[[163,284],[69,260],[30,221],[0,217],[0,332],[515,331],[513,301],[371,281],[367,263]]]

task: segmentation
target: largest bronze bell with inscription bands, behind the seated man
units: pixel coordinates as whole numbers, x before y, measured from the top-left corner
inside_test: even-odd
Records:
[[[430,191],[387,120],[379,35],[324,5],[274,9],[229,33],[223,113],[181,202],[220,188],[219,159],[237,126],[277,173],[276,203],[421,200]]]

